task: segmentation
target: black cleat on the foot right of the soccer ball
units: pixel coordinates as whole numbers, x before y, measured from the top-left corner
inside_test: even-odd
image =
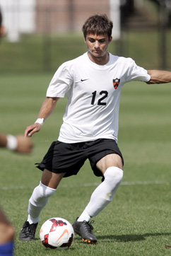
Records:
[[[97,238],[93,234],[93,226],[91,223],[94,221],[76,221],[73,222],[73,230],[76,234],[80,235],[82,237],[82,240],[88,243],[96,243]]]

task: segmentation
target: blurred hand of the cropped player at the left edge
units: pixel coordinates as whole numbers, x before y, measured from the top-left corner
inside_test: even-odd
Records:
[[[15,151],[19,153],[31,153],[33,149],[33,142],[30,138],[25,138],[23,135],[16,136],[18,145]]]

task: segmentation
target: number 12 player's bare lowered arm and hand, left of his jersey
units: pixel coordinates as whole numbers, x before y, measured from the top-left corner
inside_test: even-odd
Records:
[[[59,98],[50,98],[47,97],[44,102],[42,103],[42,107],[40,108],[40,112],[39,115],[37,117],[37,119],[41,119],[43,118],[43,121],[45,121],[47,119],[47,117],[49,117],[49,115],[52,114],[52,112],[54,111],[54,107],[57,104],[57,101],[59,100]],[[26,136],[32,136],[35,132],[39,132],[40,129],[42,127],[42,124],[35,122],[35,124],[31,124],[29,125],[26,129],[25,129],[25,137]]]

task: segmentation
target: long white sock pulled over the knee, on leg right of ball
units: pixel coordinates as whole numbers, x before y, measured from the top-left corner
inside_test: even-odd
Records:
[[[117,191],[123,178],[123,170],[115,166],[107,168],[105,180],[95,189],[90,197],[90,202],[86,206],[78,221],[90,221],[112,201],[114,193]]]

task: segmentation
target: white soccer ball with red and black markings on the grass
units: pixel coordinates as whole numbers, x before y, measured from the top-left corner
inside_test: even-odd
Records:
[[[40,228],[40,240],[46,248],[68,249],[73,239],[73,227],[66,219],[48,219]]]

